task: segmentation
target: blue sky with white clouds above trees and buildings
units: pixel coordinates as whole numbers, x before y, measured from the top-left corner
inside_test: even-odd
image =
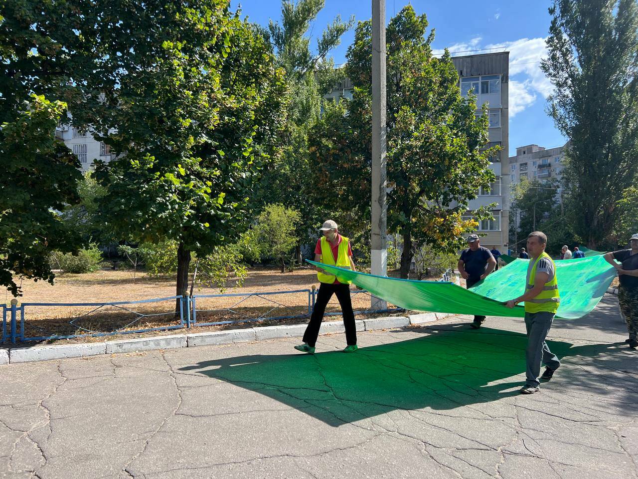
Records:
[[[510,156],[517,146],[538,144],[546,148],[562,146],[565,138],[545,114],[545,98],[551,84],[540,71],[538,61],[545,56],[544,39],[549,30],[549,1],[482,2],[457,0],[414,0],[410,2],[418,14],[426,13],[430,27],[436,29],[434,49],[450,52],[498,48],[510,52]],[[241,4],[242,16],[266,26],[270,19],[281,15],[280,0],[232,0]],[[387,0],[387,20],[406,4],[404,0]],[[347,19],[366,20],[371,16],[370,1],[326,0],[325,8],[316,19],[314,35],[341,15]],[[345,61],[346,50],[354,38],[353,31],[343,37],[342,44],[332,52],[336,63]],[[313,40],[313,44],[316,42]],[[481,52],[477,52],[481,53]]]

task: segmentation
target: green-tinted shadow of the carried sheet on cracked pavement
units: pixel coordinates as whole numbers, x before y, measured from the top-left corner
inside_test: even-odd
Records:
[[[445,329],[422,330],[420,338],[362,347],[351,354],[255,354],[202,361],[181,370],[259,392],[333,426],[395,409],[455,409],[518,395],[524,378],[513,376],[525,370],[525,335],[490,328],[477,334],[466,328],[446,324]],[[400,334],[392,333],[395,338]],[[620,351],[613,344],[548,344],[559,357],[608,353],[603,368],[611,366],[614,352]],[[570,378],[580,386],[593,381],[590,376],[570,369]]]

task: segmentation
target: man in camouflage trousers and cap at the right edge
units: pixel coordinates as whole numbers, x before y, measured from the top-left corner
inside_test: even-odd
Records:
[[[628,250],[605,254],[605,259],[618,271],[618,303],[629,333],[626,342],[635,348],[638,347],[638,233],[629,239],[629,245]]]

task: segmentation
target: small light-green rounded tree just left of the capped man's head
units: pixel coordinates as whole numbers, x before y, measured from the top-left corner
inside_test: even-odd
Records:
[[[295,230],[300,219],[299,211],[281,204],[269,204],[252,228],[256,238],[261,239],[261,256],[277,259],[282,273],[285,272],[286,259],[290,257],[292,248],[299,242]]]

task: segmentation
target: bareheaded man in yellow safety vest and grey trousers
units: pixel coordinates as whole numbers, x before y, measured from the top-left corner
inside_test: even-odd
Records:
[[[528,339],[525,351],[527,379],[520,390],[523,394],[533,394],[540,390],[538,374],[540,374],[541,362],[545,365],[545,372],[540,379],[546,381],[552,378],[554,371],[560,366],[556,354],[549,351],[545,342],[560,303],[556,265],[545,253],[546,245],[547,236],[544,232],[534,231],[527,237],[527,250],[531,258],[527,270],[525,293],[514,300],[507,301],[509,308],[525,302],[525,328]]]

